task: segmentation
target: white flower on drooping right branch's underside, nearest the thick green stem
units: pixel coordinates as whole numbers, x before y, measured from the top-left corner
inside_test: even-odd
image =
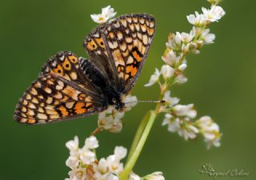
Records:
[[[163,119],[162,126],[168,126],[168,131],[174,133],[181,129],[180,122],[178,118],[174,118],[171,114],[166,114]]]

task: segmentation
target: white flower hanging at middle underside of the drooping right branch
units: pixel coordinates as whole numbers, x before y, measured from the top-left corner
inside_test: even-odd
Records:
[[[198,128],[191,125],[189,122],[184,122],[182,124],[181,129],[178,131],[178,134],[183,138],[185,138],[185,140],[188,140],[188,139],[196,138],[198,135],[198,132],[199,132]]]

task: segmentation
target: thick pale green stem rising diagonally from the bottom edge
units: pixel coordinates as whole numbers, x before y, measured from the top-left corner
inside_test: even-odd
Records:
[[[133,170],[135,163],[138,160],[139,155],[142,152],[143,146],[145,145],[146,138],[150,134],[150,130],[154,124],[154,119],[156,118],[156,114],[154,111],[150,111],[150,118],[146,123],[145,130],[142,133],[141,138],[139,139],[138,145],[136,146],[134,153],[130,156],[130,159],[126,163],[126,168],[122,171],[119,176],[119,180],[127,180],[129,177],[130,172]]]

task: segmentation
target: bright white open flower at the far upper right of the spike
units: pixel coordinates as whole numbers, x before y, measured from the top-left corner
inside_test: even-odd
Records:
[[[202,7],[202,12],[206,19],[210,22],[218,22],[226,13],[221,6],[211,6],[210,10]]]

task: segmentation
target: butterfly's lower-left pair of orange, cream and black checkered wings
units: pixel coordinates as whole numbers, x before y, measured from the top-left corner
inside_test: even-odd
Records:
[[[14,119],[38,124],[95,114],[106,109],[98,91],[83,75],[76,55],[59,52],[46,62],[39,78],[23,94]]]

